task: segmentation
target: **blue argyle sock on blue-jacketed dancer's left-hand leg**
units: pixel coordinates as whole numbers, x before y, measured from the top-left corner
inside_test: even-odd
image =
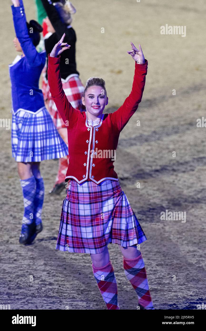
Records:
[[[34,218],[34,199],[36,193],[36,180],[32,176],[27,179],[20,179],[22,193],[24,214],[22,224],[31,224]]]

